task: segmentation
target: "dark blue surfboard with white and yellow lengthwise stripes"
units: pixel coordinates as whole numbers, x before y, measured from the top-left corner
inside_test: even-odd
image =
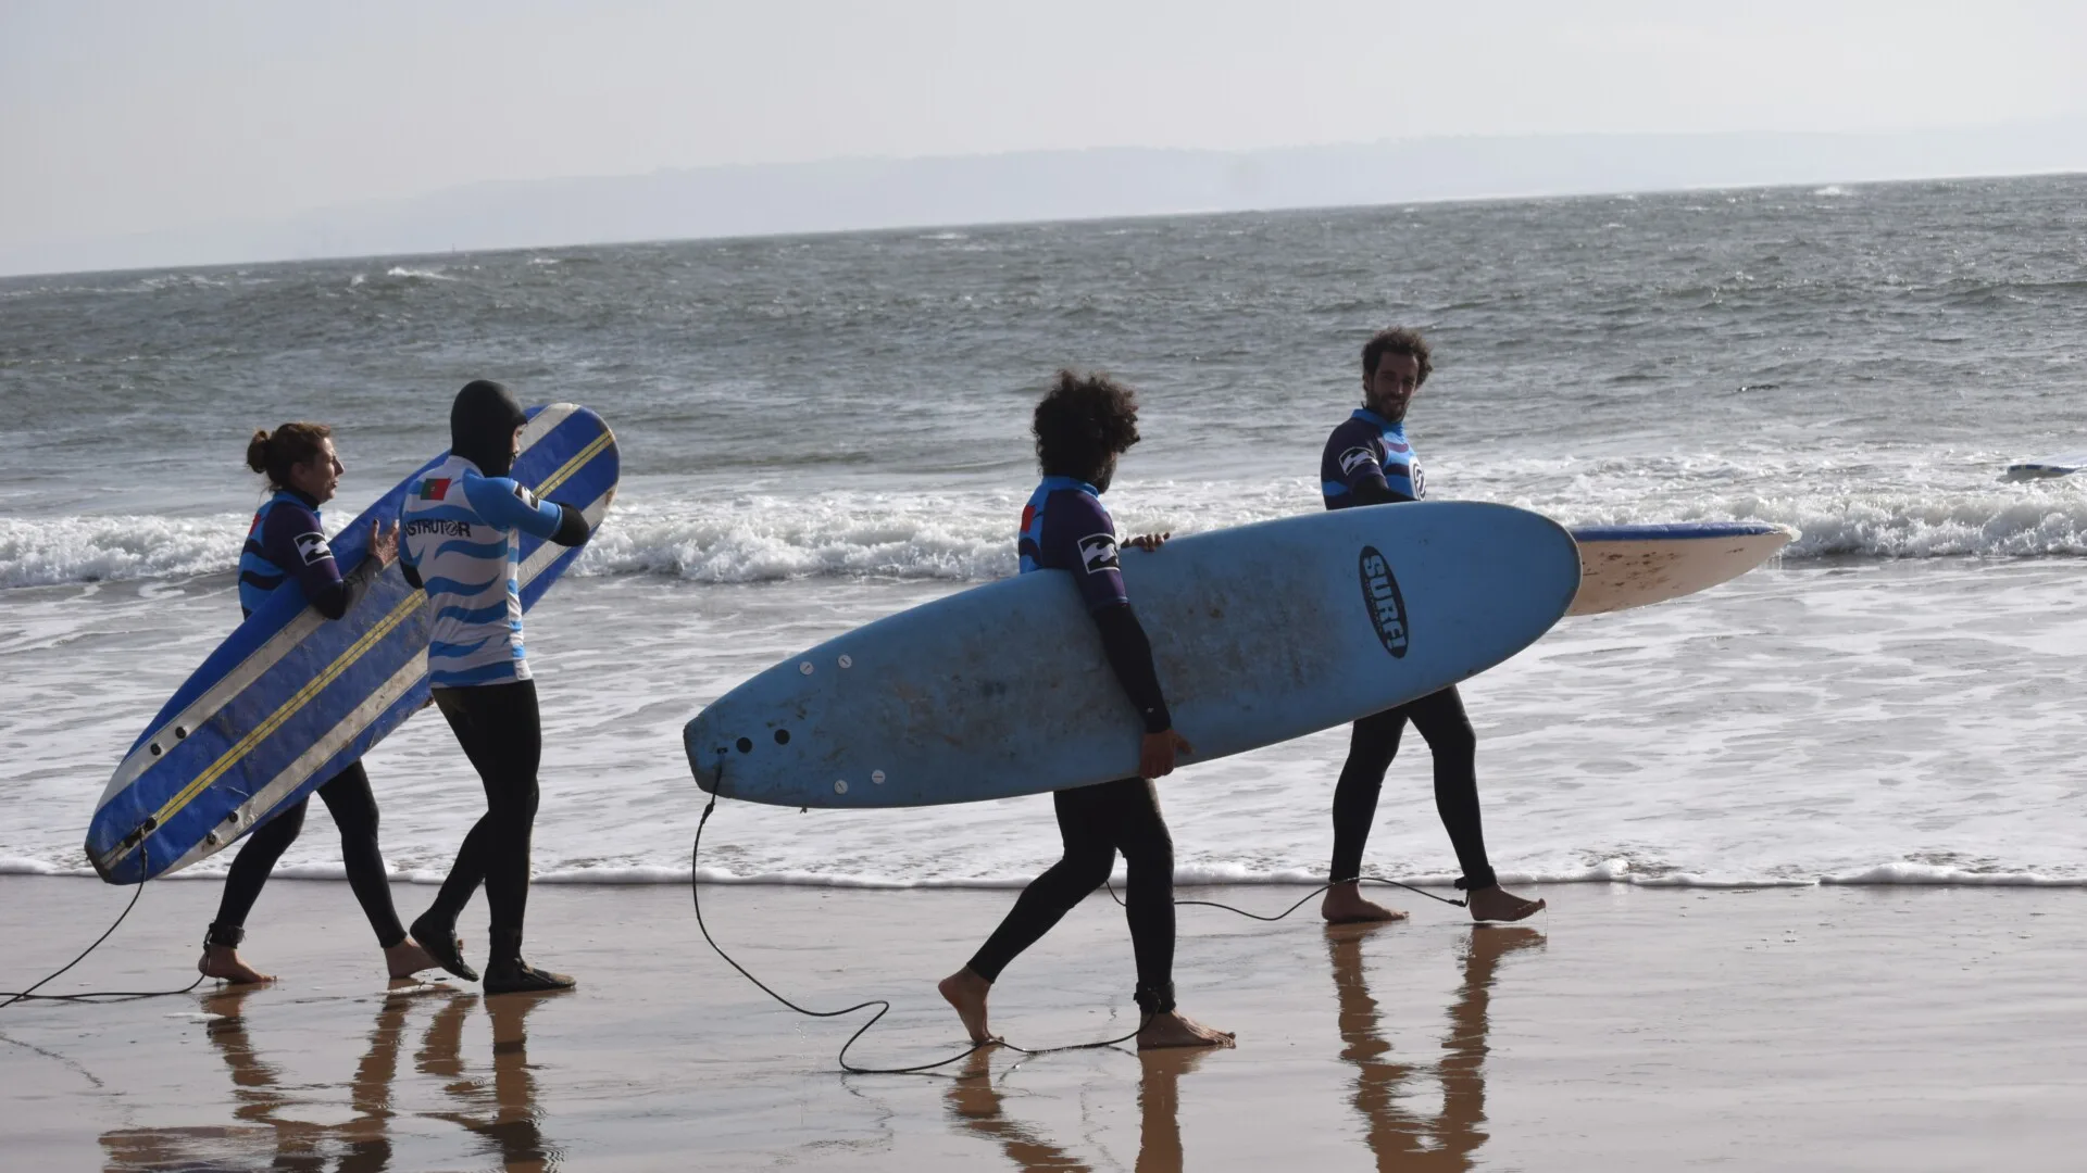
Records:
[[[599,526],[616,497],[616,436],[570,403],[536,407],[513,476]],[[394,524],[434,457],[332,541],[344,570],[363,561],[369,522]],[[522,605],[580,555],[522,536]],[[340,620],[280,586],[131,743],[88,829],[88,860],[109,883],[142,883],[236,841],[311,793],[428,701],[426,595],[394,561]]]

